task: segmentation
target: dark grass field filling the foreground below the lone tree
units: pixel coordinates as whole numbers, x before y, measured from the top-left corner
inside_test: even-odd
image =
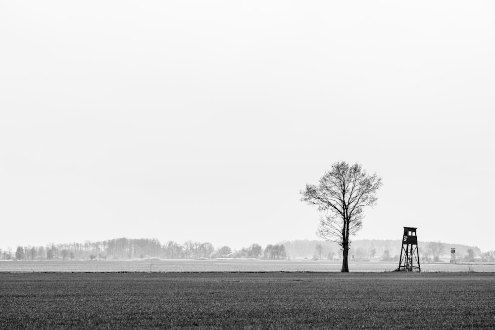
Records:
[[[495,329],[493,273],[1,273],[0,329]]]

